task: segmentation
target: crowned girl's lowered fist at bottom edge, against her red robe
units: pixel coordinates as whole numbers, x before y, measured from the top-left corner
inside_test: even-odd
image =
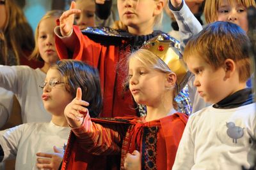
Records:
[[[134,150],[134,152],[127,153],[124,160],[124,169],[126,170],[140,170],[141,168],[140,152]]]

